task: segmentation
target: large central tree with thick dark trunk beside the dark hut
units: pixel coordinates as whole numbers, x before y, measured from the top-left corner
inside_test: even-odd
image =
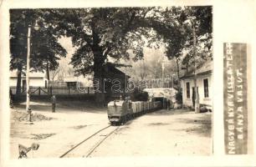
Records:
[[[94,73],[100,80],[100,92],[97,101],[104,101],[103,89],[105,64],[110,58],[134,60],[143,57],[144,38],[148,43],[161,38],[159,32],[172,33],[172,26],[161,23],[161,8],[85,8],[69,10],[66,14],[69,22],[68,35],[78,47],[71,60],[76,73]],[[156,33],[153,32],[158,32]],[[110,62],[109,62],[110,63]],[[114,63],[115,67],[124,64]],[[100,99],[100,100],[99,100]]]

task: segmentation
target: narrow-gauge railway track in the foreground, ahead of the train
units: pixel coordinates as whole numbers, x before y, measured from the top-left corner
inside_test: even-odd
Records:
[[[100,129],[97,132],[95,132],[95,134],[91,134],[88,138],[79,142],[79,144],[75,144],[71,149],[66,151],[64,154],[60,155],[59,158],[75,157],[75,155],[78,155],[78,153],[79,153],[78,156],[80,156],[80,157],[89,157],[90,154],[92,154],[95,151],[95,149],[97,149],[100,146],[100,144],[102,144],[104,142],[105,139],[107,139],[111,134],[113,134],[119,128],[120,128],[119,126],[118,127],[113,127],[111,125],[106,126],[105,128]],[[110,132],[108,132],[109,129],[110,129]],[[105,131],[107,131],[107,133],[102,134]],[[97,138],[100,138],[100,139],[97,139]],[[94,139],[97,140],[96,144],[95,143],[86,144],[90,140],[94,140]],[[85,149],[83,147],[85,147]],[[76,152],[76,153],[74,153],[74,152]]]

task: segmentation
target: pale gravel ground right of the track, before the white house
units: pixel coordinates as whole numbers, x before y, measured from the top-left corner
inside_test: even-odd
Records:
[[[211,113],[183,110],[146,114],[111,135],[91,156],[210,155],[211,118]]]

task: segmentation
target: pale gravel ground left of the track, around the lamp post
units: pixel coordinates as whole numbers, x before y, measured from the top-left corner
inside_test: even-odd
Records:
[[[28,124],[25,104],[11,109],[10,147],[11,158],[18,158],[18,144],[26,147],[40,144],[36,151],[28,152],[28,158],[58,158],[86,136],[109,124],[105,109],[95,109],[83,102],[62,101],[56,113],[51,104],[31,102],[33,124]]]

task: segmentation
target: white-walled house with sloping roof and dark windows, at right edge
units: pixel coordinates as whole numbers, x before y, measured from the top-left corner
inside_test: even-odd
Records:
[[[185,73],[181,79],[182,104],[183,106],[195,106],[195,81],[194,71]],[[212,109],[212,60],[207,60],[197,68],[197,90],[199,94],[199,104]]]

